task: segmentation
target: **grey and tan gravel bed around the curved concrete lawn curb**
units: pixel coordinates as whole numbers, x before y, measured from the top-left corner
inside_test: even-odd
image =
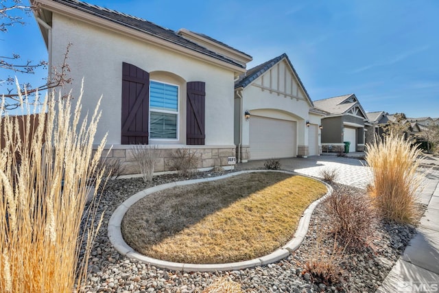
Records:
[[[191,178],[220,174],[202,172]],[[368,247],[357,253],[344,251],[339,261],[344,281],[336,284],[322,283],[305,272],[305,263],[316,253],[318,238],[326,233],[324,223],[327,215],[322,204],[314,211],[309,232],[300,248],[287,259],[268,266],[230,272],[175,272],[155,268],[117,253],[108,240],[107,224],[119,204],[147,187],[185,179],[188,178],[163,175],[154,177],[153,182],[147,184],[140,178],[108,182],[99,204],[100,211],[105,211],[104,222],[89,259],[90,273],[82,288],[84,292],[202,292],[219,276],[228,276],[241,284],[244,292],[375,292],[416,233],[414,226],[410,225],[377,224],[374,235],[370,235]],[[334,186],[334,189],[340,188],[357,194],[365,192],[353,187],[346,189],[342,185]],[[320,250],[331,253],[331,237],[322,239]]]

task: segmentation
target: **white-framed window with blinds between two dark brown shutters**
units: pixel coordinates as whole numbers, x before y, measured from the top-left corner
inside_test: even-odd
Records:
[[[150,80],[150,139],[178,139],[178,92],[177,85]]]

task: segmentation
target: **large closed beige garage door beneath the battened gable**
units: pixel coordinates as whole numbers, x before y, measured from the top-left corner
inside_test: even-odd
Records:
[[[296,122],[267,117],[250,118],[250,159],[296,156]]]

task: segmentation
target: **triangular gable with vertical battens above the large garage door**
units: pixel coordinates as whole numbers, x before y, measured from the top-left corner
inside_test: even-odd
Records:
[[[278,96],[289,97],[290,99],[296,100],[302,99],[312,106],[298,76],[294,69],[289,66],[289,62],[287,62],[286,58],[283,58],[270,67],[270,69],[262,73],[250,86],[257,87],[261,91],[274,93]]]

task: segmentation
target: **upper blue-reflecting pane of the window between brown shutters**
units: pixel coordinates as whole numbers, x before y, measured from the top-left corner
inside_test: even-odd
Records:
[[[158,110],[178,111],[178,86],[150,82],[150,107]]]

